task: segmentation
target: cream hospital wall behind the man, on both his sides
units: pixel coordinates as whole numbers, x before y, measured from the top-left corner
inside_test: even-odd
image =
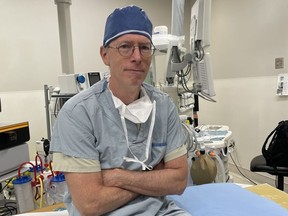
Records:
[[[99,46],[106,16],[115,7],[137,4],[155,26],[170,27],[170,0],[103,2],[72,0],[75,73],[108,70]],[[286,0],[212,0],[209,51],[217,102],[200,100],[199,123],[230,127],[233,155],[244,170],[261,153],[268,133],[287,119],[288,97],[276,96],[277,75],[287,73],[287,11]],[[0,123],[29,121],[32,158],[36,140],[47,137],[43,86],[57,86],[61,74],[56,5],[52,0],[0,0],[0,26]],[[278,57],[284,58],[284,69],[274,67]],[[157,65],[161,71],[163,63]]]

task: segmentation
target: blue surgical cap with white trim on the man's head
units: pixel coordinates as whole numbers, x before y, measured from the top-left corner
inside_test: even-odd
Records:
[[[139,34],[152,41],[152,23],[145,11],[137,6],[117,8],[106,21],[103,46],[124,34]]]

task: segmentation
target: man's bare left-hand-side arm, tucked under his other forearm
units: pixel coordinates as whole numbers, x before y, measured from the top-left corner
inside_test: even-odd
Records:
[[[114,179],[112,177],[114,172],[110,171],[107,171],[106,174],[109,173],[109,179]],[[125,205],[138,196],[137,193],[126,189],[103,185],[102,174],[102,172],[65,173],[73,203],[81,215],[103,215]]]

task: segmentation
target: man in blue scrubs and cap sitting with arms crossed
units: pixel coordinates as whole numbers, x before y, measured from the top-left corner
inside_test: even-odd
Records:
[[[187,185],[187,150],[172,99],[143,83],[152,24],[136,6],[107,18],[100,54],[110,77],[69,99],[51,140],[70,215],[182,215],[166,195]]]

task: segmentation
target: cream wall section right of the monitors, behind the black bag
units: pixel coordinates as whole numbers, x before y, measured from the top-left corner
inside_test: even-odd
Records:
[[[210,52],[217,103],[201,100],[199,121],[230,127],[232,156],[244,171],[278,122],[288,119],[288,96],[276,96],[278,74],[288,74],[287,12],[285,0],[213,1]],[[283,69],[275,69],[279,57]]]

